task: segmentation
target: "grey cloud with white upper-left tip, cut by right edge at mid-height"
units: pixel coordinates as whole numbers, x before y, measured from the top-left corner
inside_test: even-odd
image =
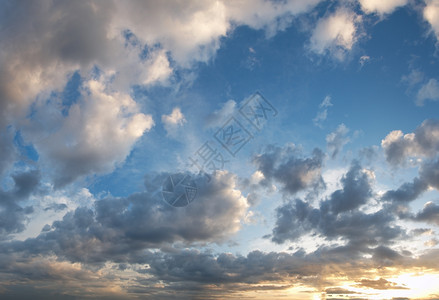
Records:
[[[425,120],[413,133],[390,132],[381,141],[387,161],[403,165],[409,157],[431,158],[439,151],[439,121]]]

